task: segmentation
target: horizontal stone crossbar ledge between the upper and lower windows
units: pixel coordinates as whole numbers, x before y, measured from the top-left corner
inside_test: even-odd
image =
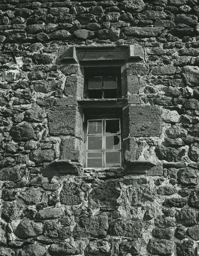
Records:
[[[128,104],[128,100],[126,98],[80,99],[77,102],[82,108],[122,108]]]

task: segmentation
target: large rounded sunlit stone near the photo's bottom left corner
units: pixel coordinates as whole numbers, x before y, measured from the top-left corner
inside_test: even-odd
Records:
[[[16,236],[24,239],[39,236],[42,233],[43,224],[39,222],[30,221],[29,219],[23,219],[15,230]]]

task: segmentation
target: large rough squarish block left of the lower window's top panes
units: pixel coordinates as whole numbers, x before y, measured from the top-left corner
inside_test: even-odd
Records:
[[[72,135],[82,139],[82,116],[75,106],[57,106],[48,113],[50,135]]]

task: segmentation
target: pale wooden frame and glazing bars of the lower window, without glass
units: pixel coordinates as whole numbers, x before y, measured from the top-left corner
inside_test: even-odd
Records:
[[[118,119],[120,121],[120,133],[108,133],[105,135],[105,120],[116,120]],[[88,143],[88,121],[89,120],[102,120],[102,150],[87,150],[87,143]],[[95,115],[95,116],[86,116],[85,121],[83,124],[84,132],[83,132],[83,166],[86,169],[100,169],[100,168],[119,168],[122,167],[123,163],[123,149],[122,149],[122,118],[121,116],[115,116],[115,115]],[[89,135],[91,136],[91,135]],[[92,135],[99,136],[99,134]],[[120,149],[106,149],[106,139],[105,136],[120,136]],[[87,153],[88,151],[90,153],[99,153],[102,152],[102,167],[87,167]],[[114,167],[106,167],[106,152],[120,152],[120,166]]]

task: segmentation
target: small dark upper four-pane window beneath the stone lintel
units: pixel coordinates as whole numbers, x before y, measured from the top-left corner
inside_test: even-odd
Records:
[[[121,70],[113,68],[85,68],[85,98],[120,98]]]

